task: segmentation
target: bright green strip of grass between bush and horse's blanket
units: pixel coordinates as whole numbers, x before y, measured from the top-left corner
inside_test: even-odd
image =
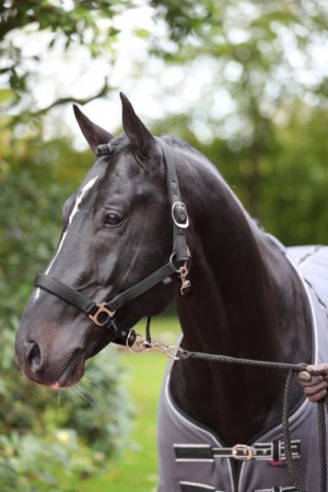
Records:
[[[137,330],[143,332],[143,327]],[[152,339],[175,343],[179,332],[176,318],[162,317],[152,323]],[[157,402],[167,359],[159,351],[133,354],[121,351],[127,367],[125,385],[136,407],[136,420],[129,445],[122,456],[108,462],[108,472],[83,480],[80,492],[154,492],[157,483],[156,421]]]

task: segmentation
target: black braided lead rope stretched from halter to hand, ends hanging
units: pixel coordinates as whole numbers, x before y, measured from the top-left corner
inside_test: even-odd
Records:
[[[284,386],[283,395],[283,407],[282,407],[282,434],[285,447],[285,460],[290,476],[292,477],[294,488],[297,492],[307,492],[302,483],[302,480],[295,468],[292,448],[291,448],[291,436],[289,430],[289,409],[290,409],[290,397],[291,397],[291,386],[293,382],[293,376],[295,373],[305,371],[307,364],[290,364],[285,362],[269,362],[269,361],[254,361],[249,359],[238,359],[229,355],[215,355],[202,352],[188,352],[183,350],[177,352],[177,356],[181,360],[184,359],[202,359],[212,362],[223,362],[226,364],[243,364],[243,365],[254,365],[261,367],[279,368],[289,371],[286,376],[286,382]],[[318,432],[319,432],[319,453],[320,453],[320,492],[327,492],[327,452],[326,452],[326,420],[325,420],[325,406],[327,406],[327,400],[324,398],[318,403]]]

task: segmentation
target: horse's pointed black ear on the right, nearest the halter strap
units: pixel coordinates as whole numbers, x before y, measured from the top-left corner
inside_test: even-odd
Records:
[[[131,142],[136,157],[141,164],[147,162],[150,157],[159,157],[161,152],[156,140],[136,115],[128,97],[122,92],[120,92],[119,95],[122,106],[124,130]]]

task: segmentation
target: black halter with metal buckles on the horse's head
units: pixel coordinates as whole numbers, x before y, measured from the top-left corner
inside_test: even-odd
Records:
[[[163,151],[168,198],[172,207],[172,218],[174,222],[173,253],[171,255],[169,261],[164,265],[164,267],[160,268],[154,273],[143,279],[141,282],[116,295],[114,298],[112,298],[112,301],[105,301],[103,303],[95,303],[82,292],[68,286],[54,277],[45,273],[39,273],[34,281],[34,285],[36,288],[43,289],[44,291],[56,295],[62,301],[78,307],[80,311],[85,313],[95,325],[108,328],[116,336],[115,342],[120,344],[124,343],[132,345],[136,342],[137,338],[134,330],[119,328],[115,320],[116,312],[124,304],[143,294],[144,292],[149,291],[160,282],[165,281],[165,279],[175,273],[177,273],[181,280],[181,295],[187,293],[190,288],[190,282],[186,280],[186,277],[188,274],[187,261],[189,259],[189,251],[186,239],[186,229],[189,225],[187,208],[181,201],[176,165],[169,147],[163,139],[159,137],[155,138]],[[105,154],[109,154],[112,152],[112,149],[108,145],[99,147],[102,148],[99,149],[99,154],[102,155],[104,155],[105,147],[107,149]]]

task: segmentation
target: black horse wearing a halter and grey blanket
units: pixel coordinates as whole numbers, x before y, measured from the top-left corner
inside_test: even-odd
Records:
[[[71,386],[87,358],[113,341],[132,345],[136,323],[173,303],[185,350],[323,362],[314,336],[317,296],[284,248],[249,218],[202,154],[181,140],[153,137],[124,95],[121,103],[119,137],[74,108],[97,159],[63,207],[57,253],[23,315],[16,360],[24,374],[52,388]],[[289,255],[308,265],[327,251]],[[269,450],[258,443],[280,432],[284,378],[272,368],[172,363],[161,403],[159,490],[294,490],[281,435],[270,438]],[[294,414],[307,408],[298,385],[291,407]],[[186,424],[180,435],[177,424]],[[296,466],[317,492],[317,468],[307,464],[311,432],[302,452],[297,432],[292,437]]]

